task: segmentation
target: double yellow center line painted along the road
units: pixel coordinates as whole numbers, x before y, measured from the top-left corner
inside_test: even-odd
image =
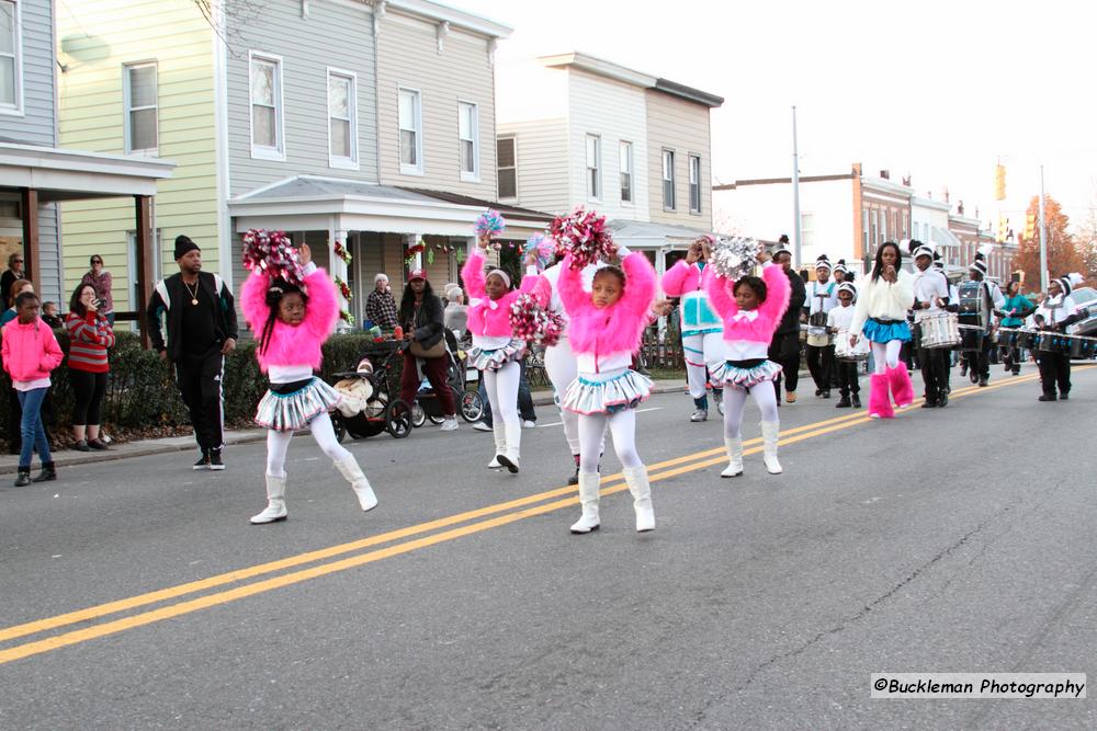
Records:
[[[953,399],[963,398],[965,396],[970,396],[973,393],[982,393],[988,390],[994,390],[996,388],[1003,388],[1005,386],[1013,386],[1016,384],[1028,382],[1034,380],[1036,378],[1037,376],[1032,375],[1032,376],[1025,376],[1021,378],[1013,378],[1008,381],[1004,381],[1002,384],[995,384],[994,386],[987,388],[977,388],[977,387],[965,388],[953,392],[951,398]],[[918,403],[920,403],[920,400],[916,401],[915,406],[917,406]],[[810,439],[816,436],[822,436],[824,434],[829,434],[832,432],[849,429],[851,426],[857,426],[868,421],[869,416],[864,412],[855,412],[846,414],[844,416],[826,419],[824,421],[806,424],[804,426],[798,426],[795,429],[790,429],[782,432],[780,444],[782,445],[795,444],[796,442],[802,442],[804,439]],[[760,443],[761,443],[760,438],[749,439],[745,442],[744,447],[748,448],[744,450],[744,454],[750,455],[761,452],[762,447],[760,446]],[[680,475],[686,475],[688,472],[705,469],[708,467],[712,467],[713,465],[719,465],[725,460],[726,456],[724,454],[723,448],[706,449],[703,452],[697,452],[690,455],[685,455],[682,457],[677,457],[675,459],[668,459],[666,461],[661,461],[655,465],[649,465],[648,473],[651,481],[656,482],[659,480],[666,480],[672,477],[678,477]],[[623,476],[621,473],[602,478],[602,489],[601,489],[602,495],[613,494],[615,492],[621,492],[626,489],[627,486],[624,484]],[[118,619],[95,624],[90,627],[70,630],[60,635],[47,637],[42,640],[34,640],[24,642],[22,644],[15,644],[4,650],[0,650],[0,664],[12,662],[14,660],[21,660],[23,658],[30,658],[32,655],[41,654],[43,652],[49,652],[50,650],[68,647],[70,644],[86,642],[88,640],[92,640],[95,638],[106,637],[109,635],[122,632],[127,629],[133,629],[135,627],[150,625],[152,623],[161,621],[163,619],[179,617],[181,615],[190,614],[192,612],[197,612],[200,609],[206,609],[222,604],[227,604],[229,602],[235,602],[237,599],[247,596],[253,596],[256,594],[269,592],[271,590],[280,589],[282,586],[297,584],[303,581],[316,579],[318,576],[325,576],[328,574],[337,573],[339,571],[346,571],[347,569],[364,566],[366,563],[373,563],[374,561],[392,558],[394,556],[407,553],[414,550],[418,550],[420,548],[427,548],[429,546],[434,546],[437,544],[454,540],[463,536],[468,536],[475,533],[488,530],[490,528],[504,526],[509,523],[514,523],[517,521],[532,517],[534,515],[542,515],[544,513],[558,511],[564,507],[576,505],[578,503],[578,496],[576,493],[577,489],[574,487],[557,488],[555,490],[548,490],[546,492],[528,495],[525,498],[519,498],[517,500],[511,500],[495,505],[487,505],[485,507],[480,507],[474,511],[467,511],[465,513],[450,515],[448,517],[439,518],[437,521],[420,523],[418,525],[408,526],[406,528],[400,528],[398,530],[391,530],[388,533],[371,536],[369,538],[363,538],[361,540],[354,540],[347,544],[340,544],[338,546],[331,546],[329,548],[308,551],[306,553],[291,556],[289,558],[280,559],[278,561],[270,561],[268,563],[260,563],[258,566],[240,569],[237,571],[229,571],[227,573],[217,574],[214,576],[210,576],[207,579],[202,579],[200,581],[179,584],[177,586],[170,586],[155,592],[148,592],[146,594],[138,594],[136,596],[118,599],[115,602],[108,602],[105,604],[100,604],[84,609],[79,609],[77,612],[69,612],[67,614],[61,614],[54,617],[47,617],[44,619],[38,619],[22,625],[14,625],[12,627],[0,629],[0,642],[5,642],[21,637],[27,637],[30,635],[37,635],[39,632],[45,632],[48,630],[67,627],[78,623],[102,619],[113,614],[118,614],[129,609],[136,609],[138,607],[148,606],[150,604],[157,604],[160,602],[166,602],[169,599],[174,599],[191,594],[196,594],[200,592],[205,592],[217,587],[223,587],[228,584],[237,584],[239,582],[249,579],[272,574],[279,571],[285,571],[286,569],[293,569],[295,567],[302,567],[308,563],[321,562],[325,561],[326,559],[331,559],[347,553],[355,553],[357,551],[360,551],[362,549],[380,546],[382,544],[389,544],[393,541],[403,540],[403,542],[396,542],[395,545],[386,546],[384,548],[377,548],[374,550],[366,551],[364,553],[357,553],[354,556],[349,556],[347,558],[342,558],[336,561],[317,563],[316,566],[298,569],[296,571],[290,571],[286,573],[281,573],[275,576],[263,579],[262,581],[256,581],[244,585],[233,586],[230,589],[224,589],[222,591],[205,594],[196,598],[191,598],[176,604],[169,604],[155,609],[142,612],[139,614],[134,614]],[[504,514],[498,515],[499,513]],[[477,518],[484,518],[486,516],[491,516],[491,515],[494,515],[495,517],[490,517],[488,519],[480,519],[475,523],[468,523],[470,521],[477,521]],[[460,525],[460,524],[467,524],[467,525]],[[451,527],[451,526],[459,526],[459,527]],[[441,530],[440,533],[432,533],[434,530],[439,530],[440,528],[449,528],[449,529]],[[422,534],[430,534],[430,535],[422,535]],[[420,536],[420,537],[414,538],[411,540],[404,540],[407,538],[412,538],[415,536]]]

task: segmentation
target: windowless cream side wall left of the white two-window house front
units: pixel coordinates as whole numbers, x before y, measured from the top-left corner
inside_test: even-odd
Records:
[[[500,123],[499,138],[514,138],[518,197],[523,208],[563,213],[570,207],[567,170],[567,119]]]

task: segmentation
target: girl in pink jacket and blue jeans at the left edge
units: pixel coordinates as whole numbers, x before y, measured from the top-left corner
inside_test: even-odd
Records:
[[[38,298],[34,293],[24,292],[15,297],[15,319],[0,330],[0,338],[3,369],[11,376],[23,408],[19,424],[23,444],[19,453],[15,487],[56,480],[49,442],[42,425],[42,401],[49,390],[49,373],[61,364],[65,353],[57,345],[54,331],[38,318]],[[42,472],[32,480],[31,459],[35,449],[42,460]]]

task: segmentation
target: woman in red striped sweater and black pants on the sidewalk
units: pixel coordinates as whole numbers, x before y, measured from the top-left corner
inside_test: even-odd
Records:
[[[106,449],[99,438],[99,422],[106,374],[111,366],[106,349],[114,346],[114,330],[106,316],[100,313],[102,302],[90,284],[80,283],[69,300],[65,328],[69,333],[69,380],[76,403],[72,407],[73,449],[91,452]]]

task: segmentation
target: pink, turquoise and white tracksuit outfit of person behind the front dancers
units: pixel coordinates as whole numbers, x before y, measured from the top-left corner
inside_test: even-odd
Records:
[[[686,380],[693,397],[695,411],[690,421],[709,418],[709,367],[724,362],[724,325],[709,302],[709,294],[701,286],[703,262],[687,264],[679,260],[663,275],[663,294],[680,297],[682,355],[686,359]],[[712,396],[721,398],[723,384],[712,381]]]

